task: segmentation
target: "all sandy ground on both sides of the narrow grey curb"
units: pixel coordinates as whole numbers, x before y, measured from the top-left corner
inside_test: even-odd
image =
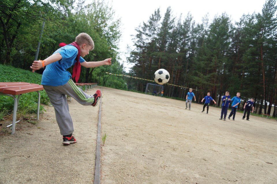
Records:
[[[220,109],[201,113],[201,104],[189,111],[180,100],[102,94],[101,183],[277,183],[277,121],[241,113],[222,121]],[[99,106],[69,106],[76,144],[61,144],[50,106],[37,125],[19,123],[16,134],[0,137],[1,184],[93,183]]]

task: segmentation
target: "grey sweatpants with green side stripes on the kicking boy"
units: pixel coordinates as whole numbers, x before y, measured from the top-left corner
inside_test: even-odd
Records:
[[[83,90],[78,88],[71,79],[63,86],[43,85],[43,88],[55,109],[56,120],[61,135],[70,135],[73,133],[74,128],[65,95],[71,96],[82,105],[91,105],[94,101],[94,97],[83,92]]]

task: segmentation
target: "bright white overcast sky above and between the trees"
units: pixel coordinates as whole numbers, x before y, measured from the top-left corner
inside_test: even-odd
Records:
[[[132,46],[132,36],[136,34],[135,28],[138,27],[143,21],[147,22],[155,9],[160,8],[160,14],[163,18],[166,8],[171,6],[173,15],[183,17],[190,12],[195,22],[202,22],[202,17],[209,13],[209,19],[212,20],[216,14],[220,15],[226,12],[231,19],[238,21],[243,14],[261,12],[263,4],[266,0],[139,0],[139,1],[127,1],[127,0],[113,0],[106,2],[112,5],[115,10],[115,16],[121,18],[121,31],[122,36],[119,42],[119,48],[121,52],[122,62],[127,67],[126,71],[129,71],[128,67],[131,67],[126,62],[126,47]],[[161,19],[162,20],[162,19]]]

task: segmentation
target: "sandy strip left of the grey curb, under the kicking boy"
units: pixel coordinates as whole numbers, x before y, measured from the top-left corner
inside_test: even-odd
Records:
[[[18,123],[0,137],[1,184],[93,183],[99,106],[68,103],[77,143],[62,144],[54,108],[45,106],[36,125]]]

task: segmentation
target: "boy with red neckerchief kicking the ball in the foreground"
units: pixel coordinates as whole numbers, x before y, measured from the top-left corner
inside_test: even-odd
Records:
[[[91,37],[86,33],[76,36],[75,42],[59,48],[45,60],[34,61],[30,67],[33,72],[46,66],[42,74],[42,82],[50,102],[55,108],[56,120],[59,125],[60,133],[63,135],[63,144],[76,143],[72,136],[74,131],[73,122],[69,114],[68,102],[65,95],[73,97],[82,105],[96,106],[101,97],[100,90],[94,95],[88,95],[78,88],[72,80],[76,82],[81,73],[81,65],[86,68],[93,68],[102,65],[111,65],[111,58],[98,62],[87,62],[83,57],[94,49]],[[73,75],[66,71],[74,65]]]

